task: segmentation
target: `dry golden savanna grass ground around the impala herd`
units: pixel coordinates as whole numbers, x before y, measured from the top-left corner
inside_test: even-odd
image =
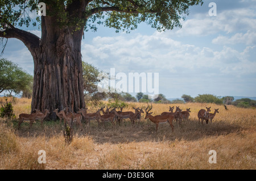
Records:
[[[18,99],[16,116],[30,113],[31,99]],[[181,126],[160,124],[158,132],[150,120],[121,125],[106,124],[98,128],[97,121],[83,130],[75,129],[70,145],[65,144],[63,123],[44,121],[32,125],[17,120],[1,119],[0,169],[256,169],[256,110],[216,104],[152,104],[153,115],[168,111],[169,106],[182,110],[191,108],[190,119]],[[123,111],[146,103],[129,103]],[[197,112],[201,108],[220,108],[213,123],[199,125]],[[98,109],[89,108],[89,112]],[[142,118],[144,118],[143,113]],[[38,163],[38,151],[46,151],[46,164]],[[217,163],[208,162],[209,150],[217,153]]]

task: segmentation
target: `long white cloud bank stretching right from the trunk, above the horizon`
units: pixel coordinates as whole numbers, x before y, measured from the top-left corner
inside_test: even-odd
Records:
[[[116,68],[127,72],[160,72],[177,73],[180,69],[187,72],[199,71],[207,74],[208,69],[216,69],[218,73],[240,76],[256,73],[250,61],[251,49],[242,52],[224,46],[220,51],[209,47],[197,47],[183,44],[155,32],[151,36],[100,37],[92,41],[92,45],[83,43],[82,55],[84,60],[105,70]],[[255,47],[253,47],[255,48]],[[246,62],[246,65],[245,65]],[[255,66],[254,66],[255,67]]]

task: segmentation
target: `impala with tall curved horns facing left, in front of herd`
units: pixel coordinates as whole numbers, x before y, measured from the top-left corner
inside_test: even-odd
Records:
[[[174,132],[174,125],[172,125],[172,120],[174,120],[174,113],[152,116],[151,115],[152,112],[149,112],[150,110],[152,110],[152,108],[153,107],[152,107],[152,104],[151,104],[151,108],[147,111],[147,109],[148,109],[148,104],[147,104],[145,119],[150,119],[150,121],[155,123],[156,131],[158,131],[158,125],[159,124],[168,122],[170,124],[171,128],[172,128],[172,132]]]

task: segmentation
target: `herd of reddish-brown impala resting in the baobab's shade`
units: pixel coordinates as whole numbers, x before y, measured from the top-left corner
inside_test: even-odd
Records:
[[[69,125],[71,124],[71,121],[73,120],[73,123],[76,123],[77,125],[80,126],[80,129],[82,129],[82,117],[84,117],[84,119],[90,124],[90,120],[97,120],[98,125],[100,125],[101,123],[105,123],[105,122],[110,122],[112,123],[112,127],[115,124],[114,120],[116,120],[119,124],[121,124],[123,119],[130,119],[131,123],[138,123],[139,121],[141,121],[141,114],[144,113],[144,111],[142,110],[142,108],[134,108],[135,112],[133,111],[126,111],[123,112],[122,108],[121,111],[117,111],[116,108],[113,108],[110,111],[110,107],[106,107],[106,111],[104,111],[105,107],[101,107],[98,111],[96,111],[95,113],[87,113],[88,108],[82,108],[81,110],[79,110],[77,113],[71,113],[71,112],[67,112],[66,109],[61,110],[60,112],[58,112],[59,110],[56,109],[53,112],[56,113],[57,117],[59,117],[60,119],[60,123],[62,120],[64,120],[64,123],[68,123]],[[150,112],[152,110],[152,104],[151,107],[149,107],[149,105],[147,104],[147,108],[146,108],[146,116],[144,117],[144,119],[149,119],[150,121],[152,121],[153,123],[155,123],[156,125],[156,131],[158,131],[158,125],[162,124],[162,123],[169,123],[172,129],[172,132],[174,131],[174,125],[172,125],[172,121],[179,121],[179,124],[181,124],[182,120],[188,120],[189,117],[189,112],[190,108],[187,108],[187,111],[182,111],[179,107],[176,106],[176,110],[174,112],[174,107],[170,106],[170,110],[169,112],[162,112],[160,115],[156,115],[156,116],[152,116],[152,112]],[[201,123],[203,124],[203,121],[205,120],[206,123],[208,124],[208,121],[210,120],[210,122],[212,122],[212,119],[214,118],[214,116],[216,115],[216,113],[218,113],[218,109],[214,109],[214,113],[209,113],[210,112],[210,107],[206,107],[207,110],[200,110],[197,113],[198,119],[199,119],[199,124],[200,124],[200,119],[201,119]],[[41,125],[43,125],[43,120],[44,118],[48,115],[49,111],[48,110],[44,110],[43,112],[40,112],[39,110],[35,110],[36,112],[31,113],[31,114],[27,114],[27,113],[21,113],[19,115],[19,123],[18,123],[18,129],[20,128],[20,124],[24,121],[30,121],[30,128],[33,124],[33,122],[35,120],[40,120]],[[101,115],[101,112],[103,115]]]

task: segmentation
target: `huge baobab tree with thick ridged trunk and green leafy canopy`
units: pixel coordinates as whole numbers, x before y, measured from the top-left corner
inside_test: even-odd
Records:
[[[29,12],[46,4],[46,16],[32,19]],[[0,37],[19,39],[34,60],[34,86],[31,110],[50,112],[68,107],[76,111],[85,107],[82,86],[81,41],[84,32],[96,31],[97,24],[131,31],[146,22],[158,31],[181,27],[180,19],[189,7],[203,0],[5,0],[0,1]],[[42,36],[22,30],[39,26]],[[24,29],[24,28],[23,28]],[[86,36],[86,34],[85,34]],[[51,114],[50,114],[51,116]]]

